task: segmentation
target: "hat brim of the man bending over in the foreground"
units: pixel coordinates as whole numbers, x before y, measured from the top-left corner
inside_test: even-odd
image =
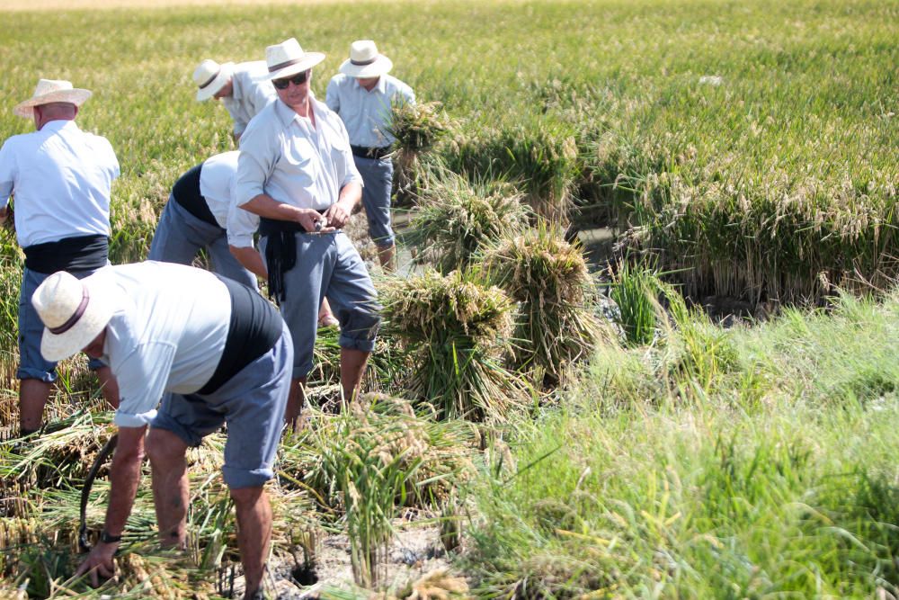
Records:
[[[40,337],[40,354],[45,360],[56,363],[81,352],[93,342],[94,337],[100,335],[121,304],[118,286],[104,282],[102,272],[85,277],[81,282],[89,294],[85,314],[61,334],[51,333],[44,327]]]

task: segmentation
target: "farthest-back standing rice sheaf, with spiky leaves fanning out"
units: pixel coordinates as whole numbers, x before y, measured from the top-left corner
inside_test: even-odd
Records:
[[[405,242],[418,250],[416,261],[441,273],[464,270],[478,251],[527,226],[528,210],[511,184],[471,184],[437,168],[419,193]]]

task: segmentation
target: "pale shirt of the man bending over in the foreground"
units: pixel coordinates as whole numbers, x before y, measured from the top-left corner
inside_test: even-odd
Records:
[[[119,381],[113,422],[148,425],[166,392],[200,390],[225,350],[231,296],[214,274],[147,261],[104,267],[120,308],[106,327],[102,362]]]

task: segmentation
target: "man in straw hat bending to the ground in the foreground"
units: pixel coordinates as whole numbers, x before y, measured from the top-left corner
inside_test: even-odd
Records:
[[[31,303],[47,326],[41,354],[58,361],[84,350],[110,365],[121,390],[104,527],[76,575],[87,573],[93,585],[113,575],[145,448],[160,537],[183,548],[185,452],[227,424],[222,474],[235,502],[245,598],[262,597],[271,540],[264,485],[273,477],[293,364],[278,311],[240,283],[152,261],[110,266],[82,280],[54,273]]]

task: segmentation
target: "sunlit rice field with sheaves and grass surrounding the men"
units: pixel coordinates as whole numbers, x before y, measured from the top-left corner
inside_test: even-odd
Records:
[[[59,4],[0,3],[0,139],[33,128],[12,107],[38,77],[93,90],[78,122],[122,168],[113,263],[146,256],[179,175],[235,148],[227,111],[193,100],[203,58],[296,37],[327,55],[323,99],[369,38],[427,103],[396,158],[416,264],[373,268],[386,324],[367,395],[334,400],[323,332],[316,410],[282,443],[284,594],[301,570],[326,580],[316,552],[348,534],[352,577],[316,593],[899,595],[899,3]],[[577,232],[598,227],[615,243],[587,261]],[[6,427],[12,228],[0,260]],[[710,298],[765,319],[724,327]],[[156,549],[145,478],[120,578],[70,579],[112,428],[83,360],[59,390],[47,433],[0,443],[0,596],[227,595],[223,436],[191,455],[190,551]],[[449,570],[396,576],[410,527],[437,531]]]

